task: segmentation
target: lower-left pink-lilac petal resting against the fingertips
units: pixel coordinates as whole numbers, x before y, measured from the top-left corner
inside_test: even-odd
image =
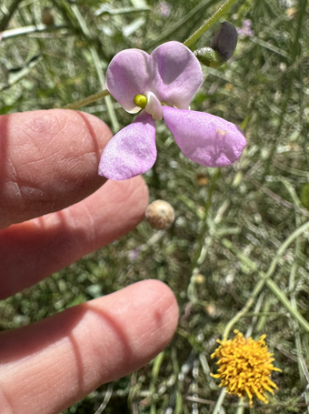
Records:
[[[153,167],[155,158],[154,120],[143,111],[105,146],[99,176],[113,180],[132,178]]]

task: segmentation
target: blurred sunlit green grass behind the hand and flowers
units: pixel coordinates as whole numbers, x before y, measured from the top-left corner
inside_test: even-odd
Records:
[[[9,8],[12,1],[3,4]],[[113,10],[136,5],[149,10],[95,15],[103,2],[21,1],[0,44],[0,114],[63,107],[95,94],[104,88],[100,73],[115,53],[184,42],[222,2],[169,4],[171,13],[164,16],[159,2],[112,0],[105,5]],[[41,24],[45,5],[52,6],[55,27],[31,35],[9,31]],[[248,145],[241,160],[220,171],[200,167],[181,155],[161,122],[158,158],[145,180],[152,200],[174,206],[174,226],[157,234],[142,223],[111,246],[0,302],[0,328],[9,329],[145,278],[163,280],[174,290],[181,316],[172,344],[144,369],[113,384],[105,413],[212,413],[221,390],[210,377],[215,371],[210,355],[248,300],[252,306],[231,329],[254,338],[265,333],[274,365],[283,372],[273,375],[279,390],[270,404],[256,403],[244,413],[308,412],[308,331],[271,288],[279,288],[309,321],[308,230],[278,257],[274,284],[265,283],[254,296],[281,245],[309,219],[307,2],[239,0],[222,20],[241,26],[245,19],[252,20],[254,37],[240,36],[224,67],[204,67],[204,84],[191,105],[244,128]],[[210,45],[216,27],[196,47]],[[83,109],[114,130],[133,119],[114,100]],[[135,249],[139,254],[132,260]],[[102,386],[64,414],[95,413],[108,387],[111,391]],[[240,414],[238,404],[226,396],[220,412]]]

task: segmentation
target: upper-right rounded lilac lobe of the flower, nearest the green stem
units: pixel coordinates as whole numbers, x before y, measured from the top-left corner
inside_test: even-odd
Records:
[[[154,64],[152,91],[161,102],[187,109],[203,83],[202,67],[185,45],[167,42],[151,54]]]

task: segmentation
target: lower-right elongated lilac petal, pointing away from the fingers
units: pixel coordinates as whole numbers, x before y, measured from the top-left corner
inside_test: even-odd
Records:
[[[164,106],[166,125],[184,157],[204,167],[225,167],[242,154],[242,130],[219,116]]]

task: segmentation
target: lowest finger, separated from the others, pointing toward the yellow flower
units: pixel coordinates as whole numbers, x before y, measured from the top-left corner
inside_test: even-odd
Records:
[[[172,291],[145,280],[1,333],[1,413],[60,412],[154,358],[172,338],[177,318]]]

